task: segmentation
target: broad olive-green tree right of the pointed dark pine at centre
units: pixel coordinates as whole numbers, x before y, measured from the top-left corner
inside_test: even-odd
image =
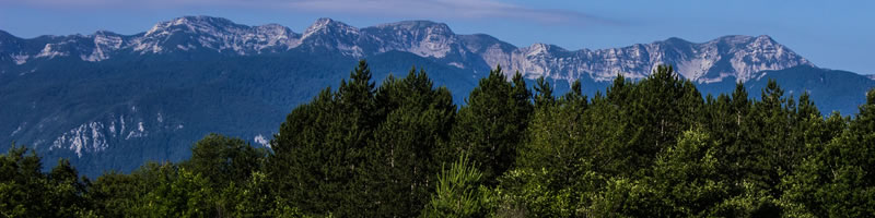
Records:
[[[540,82],[539,82],[540,83]],[[537,99],[537,97],[536,97]],[[586,96],[580,93],[580,82],[572,92],[549,104],[536,106],[518,149],[515,169],[501,179],[501,185],[515,202],[513,214],[524,211],[528,217],[571,217],[585,177],[592,145],[583,141],[590,123],[584,120]]]

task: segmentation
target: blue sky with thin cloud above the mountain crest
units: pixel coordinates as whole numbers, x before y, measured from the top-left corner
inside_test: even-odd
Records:
[[[516,46],[598,49],[680,37],[770,35],[821,68],[875,73],[875,1],[558,0],[0,0],[0,29],[31,38],[135,34],[160,21],[211,15],[301,33],[318,17],[365,27],[401,20],[446,23]]]

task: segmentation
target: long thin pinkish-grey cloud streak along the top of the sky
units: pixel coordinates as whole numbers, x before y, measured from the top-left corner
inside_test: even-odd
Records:
[[[0,7],[90,9],[249,8],[364,16],[422,19],[513,19],[542,24],[619,24],[570,10],[537,9],[495,0],[0,0]]]

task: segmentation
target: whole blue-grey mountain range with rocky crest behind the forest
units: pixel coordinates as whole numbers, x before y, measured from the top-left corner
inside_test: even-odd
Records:
[[[765,35],[567,50],[516,47],[430,21],[359,28],[319,19],[296,33],[277,24],[184,16],[135,35],[100,31],[25,39],[0,31],[0,142],[34,147],[49,159],[70,158],[89,175],[186,158],[210,132],[268,146],[294,106],[336,87],[360,59],[377,81],[424,68],[457,104],[497,65],[505,74],[544,76],[558,90],[580,80],[587,94],[618,74],[646,77],[660,64],[674,65],[704,94],[744,82],[759,96],[775,78],[786,94],[808,92],[821,111],[842,114],[854,113],[875,86],[871,75],[818,68]]]

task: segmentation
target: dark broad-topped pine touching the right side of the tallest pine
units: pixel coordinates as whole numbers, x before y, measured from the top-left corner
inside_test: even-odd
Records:
[[[450,90],[434,88],[424,71],[389,77],[376,93],[385,120],[374,131],[365,169],[370,201],[362,216],[413,217],[429,201],[440,164],[434,154],[448,141],[456,112]]]

